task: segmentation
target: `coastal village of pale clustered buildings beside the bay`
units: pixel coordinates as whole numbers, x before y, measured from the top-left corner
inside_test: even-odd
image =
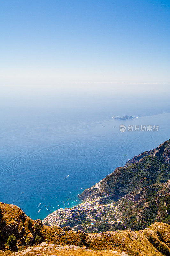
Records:
[[[106,195],[107,197],[107,195]],[[101,222],[109,225],[123,224],[119,219],[118,206],[112,202],[109,204],[100,204],[101,197],[94,199],[88,198],[85,202],[78,204],[72,208],[60,208],[55,212],[49,214],[44,220],[45,225],[58,225],[61,227],[71,226],[71,229],[82,230],[87,233],[101,232],[95,228],[96,224]],[[83,214],[83,216],[82,216]],[[72,225],[70,225],[72,220]],[[78,225],[75,225],[77,224]]]

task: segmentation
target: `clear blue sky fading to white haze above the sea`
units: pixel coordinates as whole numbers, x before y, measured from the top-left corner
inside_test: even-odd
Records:
[[[170,83],[170,1],[0,1],[4,84]]]

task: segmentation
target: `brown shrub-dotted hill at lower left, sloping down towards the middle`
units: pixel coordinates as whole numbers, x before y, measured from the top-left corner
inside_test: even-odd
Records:
[[[16,248],[42,241],[83,246],[85,239],[82,232],[64,231],[59,226],[44,226],[42,220],[30,219],[18,206],[0,203],[1,249],[5,248],[7,239],[12,234],[16,237]]]

